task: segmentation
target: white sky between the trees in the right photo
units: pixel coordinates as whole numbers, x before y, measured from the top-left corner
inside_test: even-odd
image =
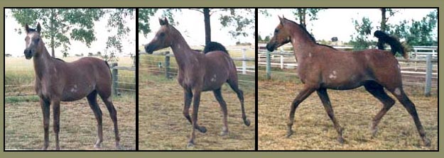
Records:
[[[278,26],[278,16],[284,16],[292,21],[295,21],[295,16],[292,9],[268,9],[271,16],[266,17],[259,13],[258,15],[258,31],[259,35],[264,38],[266,35],[272,35],[274,28]],[[388,23],[398,24],[400,21],[420,21],[428,13],[434,9],[395,9],[399,11],[394,16],[389,18]],[[388,15],[388,13],[387,13]],[[318,20],[307,21],[308,31],[313,33],[316,40],[330,40],[332,37],[337,37],[343,42],[350,41],[350,35],[356,32],[352,19],[361,21],[362,17],[367,17],[372,21],[372,26],[379,26],[381,23],[381,11],[379,9],[327,9],[318,12]],[[298,22],[298,21],[296,21]],[[377,28],[372,30],[372,33]],[[436,29],[436,35],[438,30]]]

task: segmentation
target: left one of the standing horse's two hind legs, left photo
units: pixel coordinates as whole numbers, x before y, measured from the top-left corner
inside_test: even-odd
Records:
[[[95,148],[100,148],[100,145],[103,142],[103,132],[102,132],[102,111],[100,110],[99,105],[97,104],[97,91],[92,91],[91,94],[87,96],[88,103],[90,103],[90,107],[94,116],[97,120],[97,142],[94,145]]]

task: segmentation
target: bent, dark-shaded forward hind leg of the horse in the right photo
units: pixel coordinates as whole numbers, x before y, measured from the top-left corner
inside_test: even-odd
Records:
[[[378,128],[377,125],[381,121],[381,118],[390,110],[390,108],[395,104],[393,98],[386,94],[384,87],[376,82],[369,82],[364,84],[364,87],[370,94],[375,98],[378,98],[382,102],[382,108],[377,115],[374,116],[372,120],[372,125],[370,125],[370,130],[372,130],[372,137],[376,136]]]

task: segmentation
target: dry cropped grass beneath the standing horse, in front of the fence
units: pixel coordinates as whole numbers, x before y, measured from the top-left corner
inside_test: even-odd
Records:
[[[115,149],[114,126],[107,108],[98,101],[103,113],[104,142],[102,149]],[[136,149],[136,103],[134,99],[114,101],[119,120],[121,146]],[[94,150],[97,122],[86,98],[63,102],[60,106],[60,147],[62,149]],[[38,102],[5,104],[5,149],[41,149],[43,147],[43,115]],[[51,110],[52,111],[52,110]],[[50,116],[50,148],[55,149],[53,114]]]

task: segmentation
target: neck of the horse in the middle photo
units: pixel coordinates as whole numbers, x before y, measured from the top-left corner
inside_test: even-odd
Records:
[[[182,71],[185,70],[185,65],[194,63],[195,60],[197,60],[197,54],[193,53],[194,50],[191,50],[181,35],[180,38],[175,38],[175,41],[171,45],[171,50],[173,50],[175,61]]]

